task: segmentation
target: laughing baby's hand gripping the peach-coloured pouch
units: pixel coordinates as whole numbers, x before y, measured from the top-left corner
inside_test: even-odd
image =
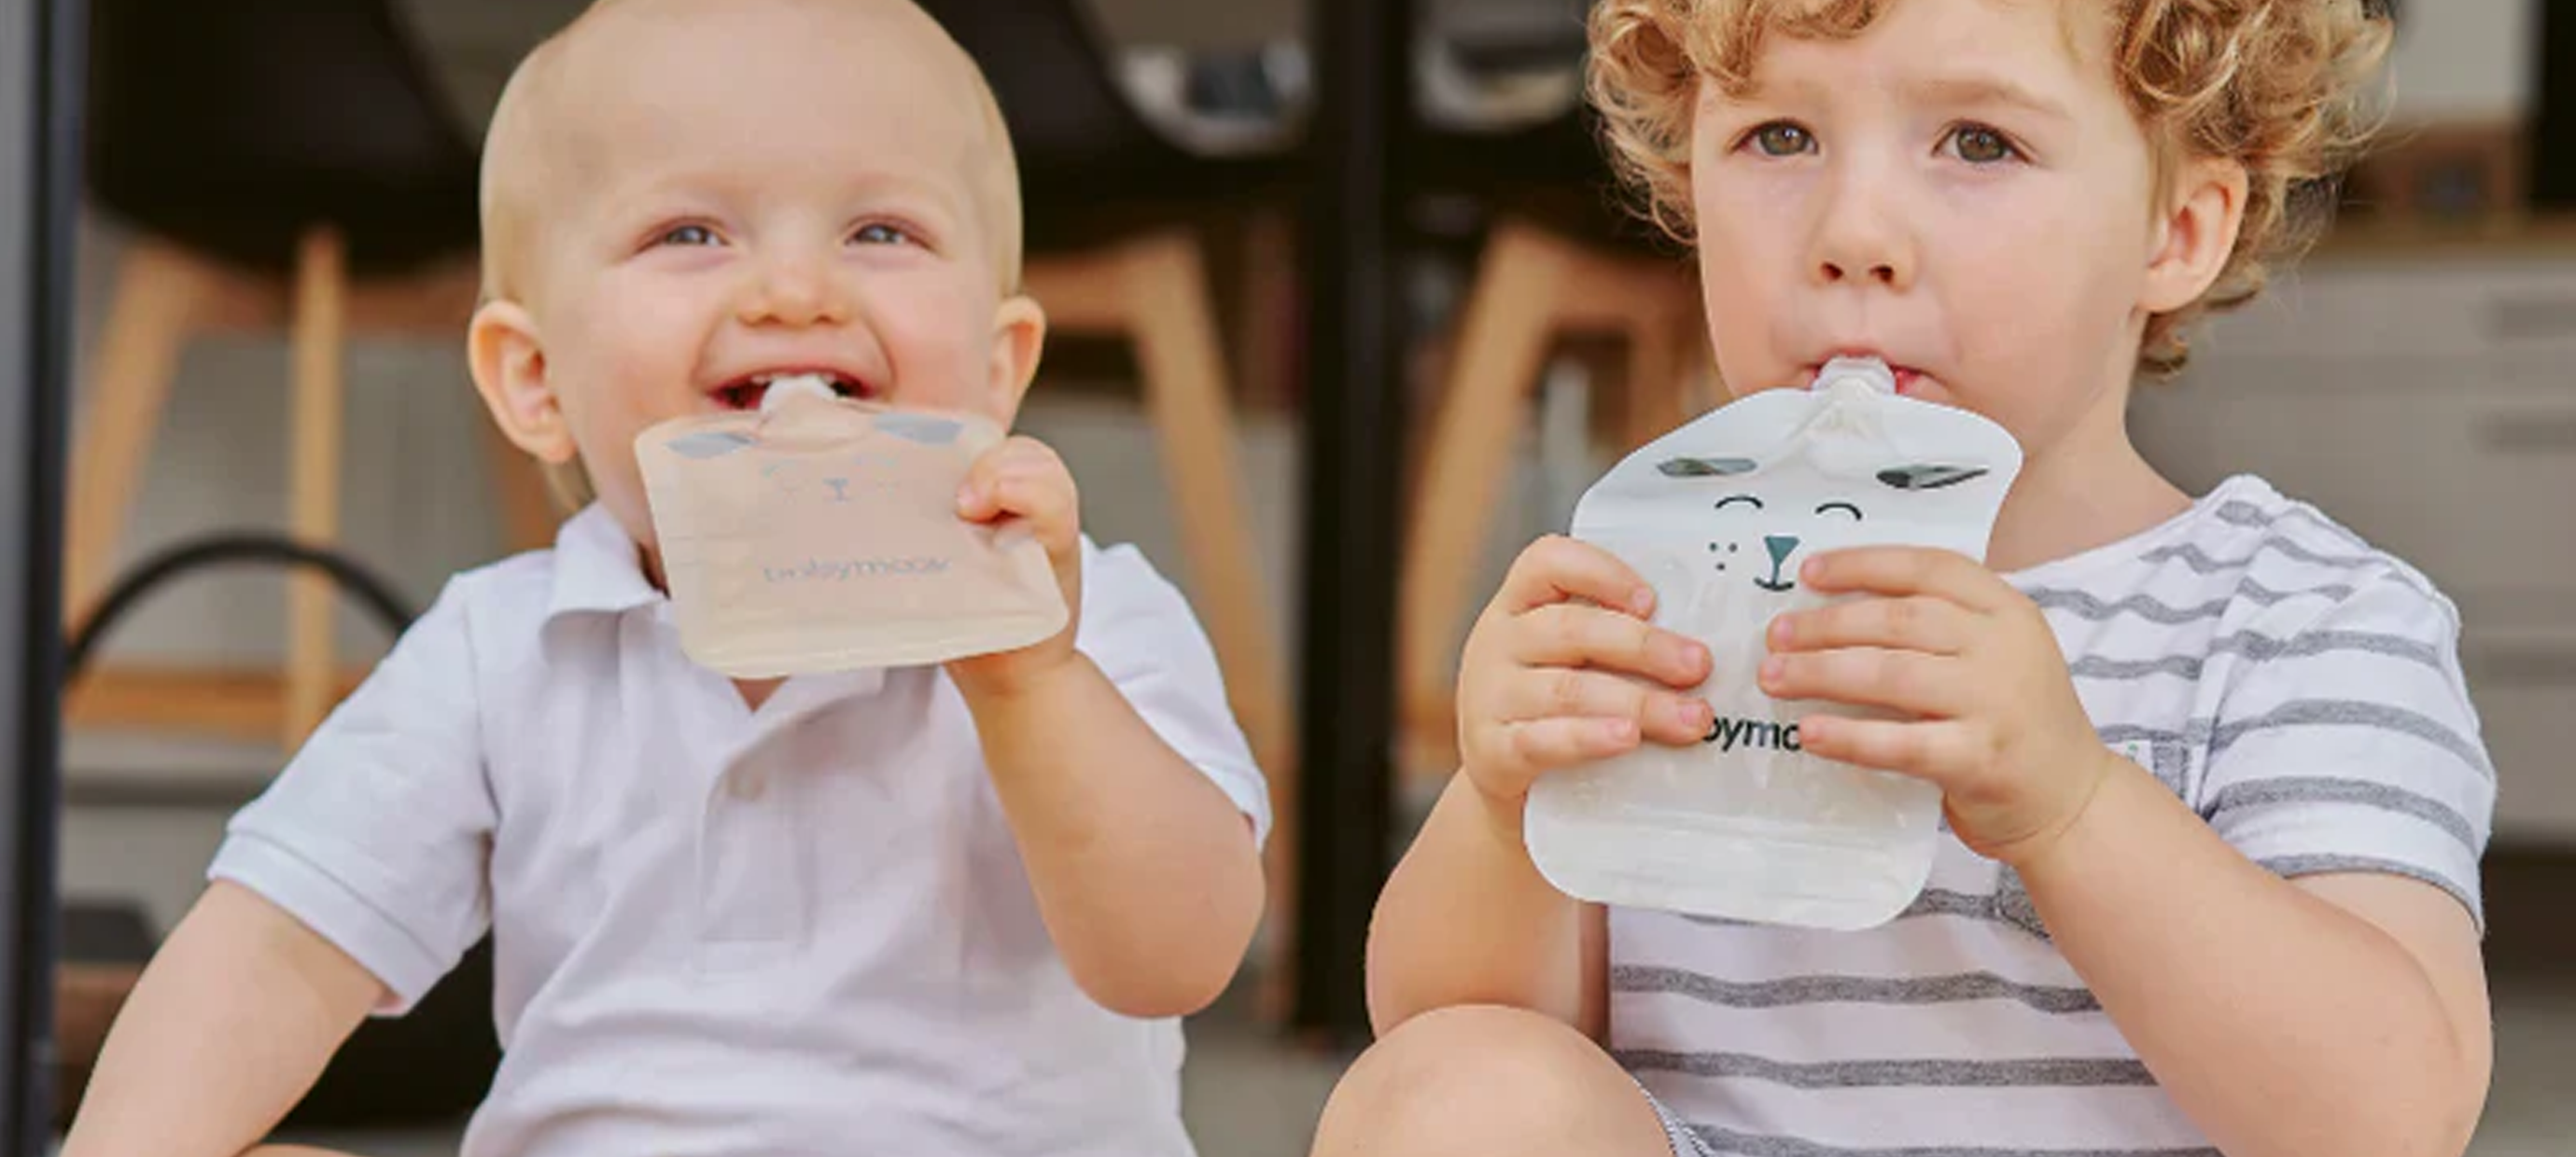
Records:
[[[1064,459],[1036,438],[1010,438],[976,459],[958,487],[958,518],[1023,531],[1046,546],[1069,611],[1064,631],[1018,652],[979,655],[948,665],[948,675],[969,693],[1015,691],[1074,660],[1074,626],[1082,621],[1082,495]]]

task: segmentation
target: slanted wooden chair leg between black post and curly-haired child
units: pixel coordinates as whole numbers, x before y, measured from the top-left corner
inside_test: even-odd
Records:
[[[1422,750],[1450,745],[1450,642],[1468,606],[1468,580],[1492,531],[1494,492],[1528,423],[1553,338],[1556,289],[1569,255],[1535,229],[1502,224],[1486,240],[1440,387],[1440,417],[1422,451],[1406,526],[1401,613],[1404,729]],[[1409,763],[1445,763],[1425,755]]]

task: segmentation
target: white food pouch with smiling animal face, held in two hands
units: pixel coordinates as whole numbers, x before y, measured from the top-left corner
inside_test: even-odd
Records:
[[[1837,361],[1814,389],[1770,389],[1636,451],[1574,508],[1574,539],[1654,585],[1656,626],[1700,639],[1705,742],[1540,776],[1528,845],[1561,892],[1605,904],[1808,928],[1868,928],[1922,894],[1940,789],[1798,747],[1803,714],[1754,680],[1765,631],[1824,606],[1811,551],[1865,544],[1986,557],[2022,469],[2004,428],[1896,394],[1878,361]]]

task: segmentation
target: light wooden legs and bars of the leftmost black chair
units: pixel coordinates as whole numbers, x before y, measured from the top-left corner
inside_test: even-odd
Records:
[[[415,278],[350,283],[335,229],[304,234],[294,283],[242,273],[157,237],[137,237],[116,271],[113,304],[100,332],[98,368],[88,384],[88,417],[72,454],[64,526],[64,611],[80,624],[111,580],[142,472],[152,456],[193,338],[289,332],[294,343],[291,531],[309,544],[340,533],[343,353],[350,335],[428,335],[453,340],[477,299],[471,258]],[[554,508],[533,461],[500,438],[487,451],[513,546],[544,546]],[[363,673],[337,670],[332,652],[332,585],[319,575],[289,580],[289,660],[283,683],[229,675],[100,670],[72,691],[72,722],[211,729],[234,737],[273,734],[294,752]]]

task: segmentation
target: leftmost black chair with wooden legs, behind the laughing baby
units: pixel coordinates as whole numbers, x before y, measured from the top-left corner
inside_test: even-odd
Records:
[[[191,338],[291,330],[291,523],[327,544],[343,343],[350,332],[453,340],[477,291],[477,147],[386,0],[93,0],[90,10],[88,186],[137,237],[116,271],[72,456],[72,624],[106,585]],[[513,541],[541,544],[541,477],[497,430],[487,446]],[[332,662],[330,590],[299,580],[289,598],[281,706],[245,714],[242,727],[276,716],[268,727],[294,747],[345,675]]]

